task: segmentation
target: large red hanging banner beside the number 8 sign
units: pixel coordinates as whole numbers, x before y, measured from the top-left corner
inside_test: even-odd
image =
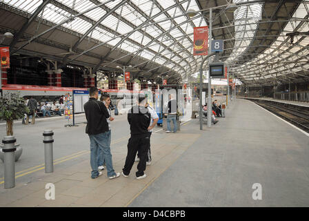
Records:
[[[194,28],[193,55],[208,55],[208,26]]]

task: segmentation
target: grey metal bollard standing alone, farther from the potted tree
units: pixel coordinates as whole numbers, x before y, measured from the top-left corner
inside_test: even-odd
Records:
[[[54,133],[52,130],[46,130],[43,132],[44,136],[44,152],[45,152],[45,173],[54,172],[54,157],[52,154],[52,143],[54,140],[52,139],[52,135]]]

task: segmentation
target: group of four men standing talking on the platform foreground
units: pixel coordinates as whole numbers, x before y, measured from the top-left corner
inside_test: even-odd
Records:
[[[98,100],[99,90],[90,88],[90,99],[83,108],[86,113],[86,133],[90,139],[90,165],[92,179],[102,175],[104,162],[109,179],[120,176],[112,166],[112,154],[110,153],[111,128],[110,122],[114,120],[110,113],[110,97],[108,94],[101,95]],[[139,95],[137,105],[128,111],[128,123],[130,124],[130,139],[128,141],[128,153],[121,174],[128,177],[135,157],[138,157],[137,180],[146,177],[146,165],[151,164],[150,136],[152,128],[157,124],[159,117],[155,110],[148,105],[145,95]]]

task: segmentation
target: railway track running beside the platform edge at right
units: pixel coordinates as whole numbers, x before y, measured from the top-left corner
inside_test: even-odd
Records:
[[[309,133],[309,111],[301,107],[274,104],[273,102],[255,100],[255,104]]]

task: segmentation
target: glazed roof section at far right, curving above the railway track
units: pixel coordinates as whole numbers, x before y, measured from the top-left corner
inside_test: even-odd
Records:
[[[232,67],[232,72],[242,76],[245,81],[251,81],[251,84],[267,84],[277,80],[288,81],[296,79],[299,76],[303,76],[297,73],[301,70],[303,73],[308,73],[309,36],[296,35],[292,44],[290,43],[290,37],[286,36],[290,32],[309,31],[308,7],[309,2],[303,1],[269,48],[255,59],[247,61],[240,66]],[[249,41],[252,41],[250,32],[248,35],[249,38],[246,40],[248,43],[245,46],[248,46],[250,44]],[[246,47],[241,50],[246,50]]]

